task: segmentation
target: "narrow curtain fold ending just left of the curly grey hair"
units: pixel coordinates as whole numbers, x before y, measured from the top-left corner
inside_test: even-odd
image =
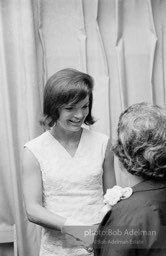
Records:
[[[119,72],[116,53],[116,2],[108,0],[98,1],[98,26],[104,46],[105,59],[109,77],[108,84],[108,108],[110,137],[115,138],[115,126],[118,115],[121,112]],[[102,84],[100,85],[102,86]],[[99,102],[99,99],[97,98]],[[116,106],[116,107],[115,107]],[[103,109],[104,111],[104,109]],[[108,118],[108,117],[106,117]]]

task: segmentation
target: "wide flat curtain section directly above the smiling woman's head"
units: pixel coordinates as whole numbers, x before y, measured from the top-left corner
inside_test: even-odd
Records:
[[[63,68],[87,70],[82,1],[39,0],[47,78]]]

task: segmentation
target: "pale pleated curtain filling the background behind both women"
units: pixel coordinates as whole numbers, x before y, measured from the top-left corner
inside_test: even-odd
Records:
[[[21,159],[24,143],[43,132],[47,78],[66,67],[92,75],[92,129],[114,141],[127,106],[166,107],[165,13],[165,0],[0,0],[0,226],[16,223],[20,256],[39,251],[40,229],[27,221],[22,199]]]

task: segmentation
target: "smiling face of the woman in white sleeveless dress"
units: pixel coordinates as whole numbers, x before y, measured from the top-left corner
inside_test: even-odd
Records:
[[[70,132],[77,132],[81,129],[85,118],[89,113],[89,96],[75,105],[66,105],[60,111],[57,125],[59,128]]]

